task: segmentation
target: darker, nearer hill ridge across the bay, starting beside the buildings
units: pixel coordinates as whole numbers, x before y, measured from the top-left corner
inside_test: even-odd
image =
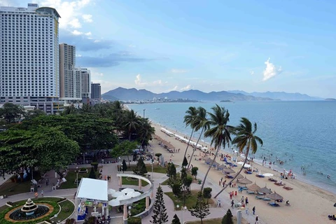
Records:
[[[110,90],[102,94],[104,99],[120,99],[120,100],[151,100],[155,98],[164,99],[192,99],[192,100],[204,100],[204,101],[221,101],[221,100],[230,100],[230,101],[256,101],[256,100],[272,100],[265,97],[253,97],[241,93],[232,93],[232,92],[202,92],[200,90],[187,90],[183,92],[171,91],[167,93],[156,94],[148,90],[137,90],[135,88],[125,89],[123,87],[118,87],[115,90]]]

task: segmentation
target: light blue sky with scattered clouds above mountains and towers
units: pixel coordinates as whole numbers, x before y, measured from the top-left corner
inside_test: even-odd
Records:
[[[300,92],[336,98],[336,1],[0,0],[56,8],[59,43],[102,92]]]

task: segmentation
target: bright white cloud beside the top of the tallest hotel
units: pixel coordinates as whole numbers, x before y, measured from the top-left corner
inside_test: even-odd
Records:
[[[39,6],[48,6],[55,8],[61,18],[59,18],[59,28],[67,29],[68,27],[80,28],[81,24],[78,18],[85,15],[82,9],[89,4],[94,4],[94,0],[44,0],[38,3]]]

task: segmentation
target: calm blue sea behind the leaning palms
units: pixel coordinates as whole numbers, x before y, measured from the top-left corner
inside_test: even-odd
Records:
[[[215,104],[228,109],[228,125],[238,125],[241,117],[257,123],[256,135],[264,144],[258,148],[255,160],[262,160],[265,156],[267,161],[274,162],[279,158],[286,162],[283,165],[276,162],[274,169],[292,169],[298,179],[336,193],[336,102],[200,102],[128,106],[141,117],[146,109],[146,118],[189,137],[191,129],[183,123],[189,106],[202,106],[211,112]],[[195,138],[198,136],[199,133],[193,135]],[[201,139],[211,141],[204,137]],[[230,151],[229,148],[225,150]],[[328,179],[327,175],[331,178]]]

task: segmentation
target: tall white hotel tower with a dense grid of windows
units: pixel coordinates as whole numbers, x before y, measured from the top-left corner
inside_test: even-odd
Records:
[[[62,110],[59,100],[60,18],[55,8],[0,7],[0,103]]]

